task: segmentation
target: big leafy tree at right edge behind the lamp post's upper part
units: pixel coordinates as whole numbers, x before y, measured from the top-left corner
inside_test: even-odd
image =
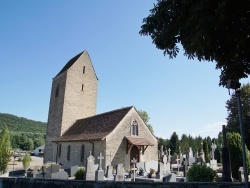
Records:
[[[250,84],[241,87],[242,119],[245,143],[250,148]],[[226,102],[228,112],[227,130],[240,133],[239,113],[237,99],[234,95]]]

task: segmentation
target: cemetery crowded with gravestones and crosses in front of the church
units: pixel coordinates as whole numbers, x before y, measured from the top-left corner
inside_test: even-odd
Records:
[[[72,166],[64,168],[63,165],[56,163],[47,163],[41,169],[27,169],[9,173],[9,178],[0,179],[0,188],[2,187],[244,187],[244,183],[230,183],[223,180],[221,169],[217,166],[217,160],[214,159],[215,145],[212,145],[210,163],[204,163],[203,150],[197,155],[189,148],[188,155],[171,156],[171,150],[159,151],[160,159],[158,161],[137,162],[135,158],[131,160],[131,170],[125,171],[123,164],[112,166],[109,164],[105,169],[102,168],[104,156],[99,154],[97,159],[89,154],[87,165]],[[111,154],[110,154],[111,155]],[[212,183],[187,182],[187,172],[192,166],[205,165],[217,173],[217,181]],[[84,169],[85,173],[82,179],[75,180],[75,174],[79,169]],[[242,178],[243,169],[239,169],[239,175]],[[23,177],[20,177],[20,174]],[[230,172],[229,172],[230,174]],[[18,177],[18,178],[16,178]],[[101,184],[100,184],[101,183]],[[17,184],[20,184],[20,186]],[[39,186],[38,186],[39,184]],[[56,185],[56,186],[55,186]],[[67,186],[66,186],[67,185]]]

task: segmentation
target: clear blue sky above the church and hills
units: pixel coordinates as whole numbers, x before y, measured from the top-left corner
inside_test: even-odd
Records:
[[[183,52],[171,60],[139,35],[153,3],[1,1],[0,113],[46,122],[52,78],[87,50],[99,78],[97,113],[133,105],[149,114],[156,136],[217,137],[230,97],[220,71]]]

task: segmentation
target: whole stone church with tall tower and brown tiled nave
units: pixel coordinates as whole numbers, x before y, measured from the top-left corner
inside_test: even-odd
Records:
[[[83,51],[53,78],[44,163],[86,166],[90,153],[102,153],[102,167],[131,160],[158,159],[158,140],[129,106],[96,115],[98,78],[87,51]]]

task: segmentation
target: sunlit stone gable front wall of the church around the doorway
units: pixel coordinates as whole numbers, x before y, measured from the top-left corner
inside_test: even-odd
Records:
[[[142,121],[135,108],[132,108],[126,117],[119,123],[119,125],[114,129],[114,131],[107,136],[107,149],[106,155],[110,152],[113,155],[112,165],[123,163],[125,170],[130,169],[130,148],[128,148],[128,154],[126,153],[127,149],[127,140],[124,136],[131,136],[131,124],[132,121],[136,120],[138,123],[138,137],[147,138],[154,146],[148,146],[145,153],[141,153],[141,161],[150,161],[158,160],[158,142],[157,139],[151,134],[145,123]],[[109,159],[106,161],[108,165]]]

